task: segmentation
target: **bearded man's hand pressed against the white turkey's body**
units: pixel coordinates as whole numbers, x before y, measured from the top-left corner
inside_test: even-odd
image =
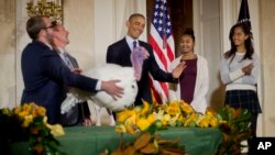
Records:
[[[108,80],[108,81],[102,81],[101,82],[101,90],[105,90],[107,93],[112,96],[114,100],[117,98],[121,98],[123,95],[123,88],[117,86],[117,82],[120,80]]]

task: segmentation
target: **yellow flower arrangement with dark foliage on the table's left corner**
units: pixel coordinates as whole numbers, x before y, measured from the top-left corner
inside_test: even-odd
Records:
[[[46,110],[35,103],[18,106],[12,110],[0,109],[1,139],[4,153],[10,154],[13,142],[29,141],[31,154],[63,154],[58,151],[58,141],[54,136],[64,135],[59,124],[48,124]],[[3,144],[3,145],[2,145]]]

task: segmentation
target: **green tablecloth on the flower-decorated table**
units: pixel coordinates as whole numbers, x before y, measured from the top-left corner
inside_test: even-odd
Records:
[[[116,150],[119,146],[120,134],[112,126],[74,126],[65,128],[65,136],[59,136],[61,150],[67,155],[99,155],[105,148]],[[222,142],[218,129],[168,128],[158,131],[162,139],[179,139],[188,155],[212,155]],[[123,135],[124,142],[132,142],[136,135]],[[26,145],[16,144],[13,147],[16,155],[26,154]]]

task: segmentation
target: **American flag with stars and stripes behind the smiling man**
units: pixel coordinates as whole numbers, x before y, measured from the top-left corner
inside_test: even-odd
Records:
[[[170,62],[175,58],[175,43],[166,0],[155,1],[148,43],[153,47],[158,66],[167,71]],[[168,100],[168,84],[156,81],[152,77],[150,82],[154,99],[158,103],[166,102]]]

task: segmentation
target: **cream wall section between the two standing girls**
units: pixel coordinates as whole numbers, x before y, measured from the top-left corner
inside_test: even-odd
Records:
[[[218,108],[223,102],[223,88],[220,82],[219,64],[221,51],[219,0],[194,1],[195,52],[206,57],[209,65],[209,106]]]

